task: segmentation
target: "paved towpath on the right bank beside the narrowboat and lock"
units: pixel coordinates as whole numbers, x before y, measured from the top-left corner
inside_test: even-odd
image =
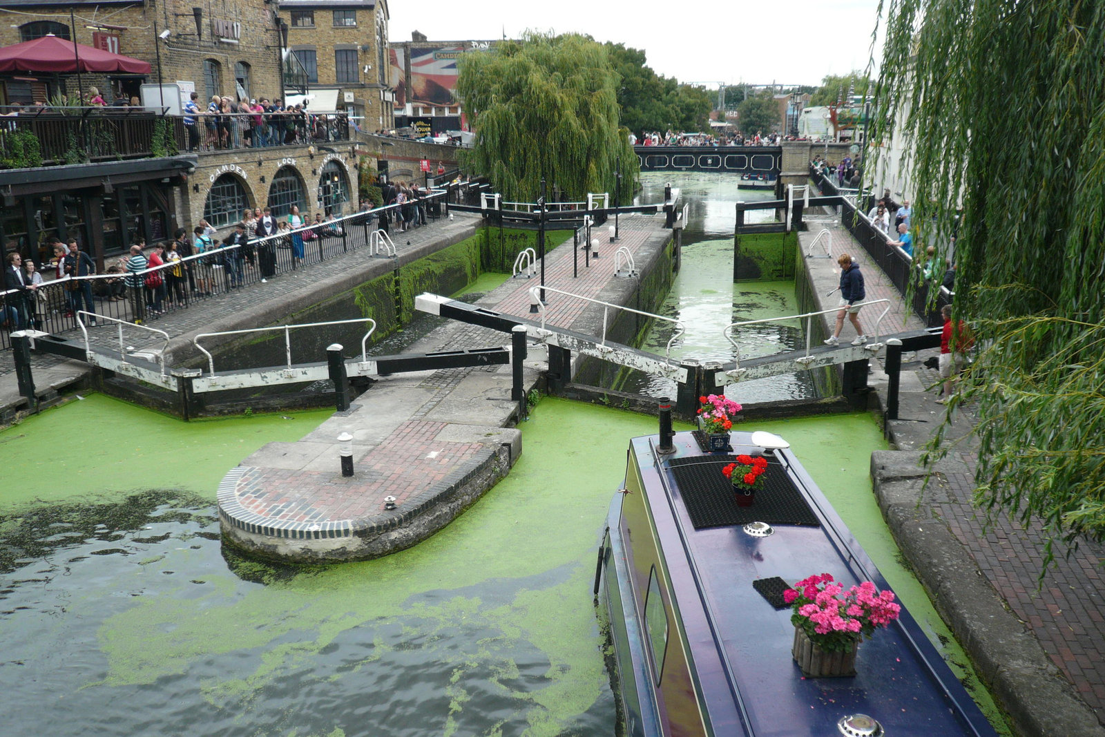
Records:
[[[896,287],[839,220],[827,219],[817,227],[811,224],[810,230],[801,234],[802,243],[811,242],[822,227],[829,228],[832,234],[833,257],[808,259],[807,264],[813,277],[814,294],[824,303],[823,308],[835,306],[835,295],[824,295],[839,280],[835,257],[848,251],[863,270],[867,299],[891,299],[892,309],[884,318],[882,333],[923,328]],[[872,307],[861,310],[865,331],[874,331],[877,312],[881,310]],[[831,320],[832,316],[829,318]],[[854,335],[851,324],[845,322],[841,341],[851,340]],[[887,422],[887,434],[899,452],[876,453],[872,463],[876,486],[884,485],[887,489],[883,499],[884,513],[907,557],[911,551],[932,556],[930,559],[911,560],[913,568],[930,593],[937,591],[934,597],[937,608],[976,664],[989,671],[983,677],[999,675],[1002,680],[997,688],[991,687],[991,692],[1014,703],[1014,723],[1029,725],[1031,734],[1105,735],[1102,728],[1105,724],[1105,571],[1099,565],[1105,560],[1105,547],[1083,543],[1077,550],[1067,550],[1059,546],[1038,588],[1044,557],[1040,526],[1024,527],[1003,513],[987,526],[983,513],[971,504],[977,455],[968,432],[977,417],[970,406],[953,412],[948,432],[953,441],[966,440],[958,442],[950,457],[940,464],[928,489],[920,491],[923,480],[917,475],[917,453],[913,451],[924,448],[946,414],[945,407],[936,403],[939,375],[923,364],[926,358],[938,355],[939,349],[933,348],[904,357],[899,419]],[[884,398],[885,406],[886,377],[877,359],[872,364],[871,381]],[[903,478],[907,480],[912,493],[897,498],[895,494]],[[922,524],[915,524],[918,517],[923,518]],[[944,527],[944,536],[929,537],[927,523],[933,519]],[[911,536],[914,539],[908,539]],[[958,546],[964,562],[969,565],[959,570],[941,571],[939,561],[949,558],[950,554],[939,547],[951,543]],[[992,609],[978,603],[981,597],[976,596],[977,592],[960,592],[961,598],[956,596],[951,590],[957,583],[954,579],[964,573],[968,583],[980,586],[983,594],[992,597]],[[999,621],[1002,610],[1008,612],[1004,623]],[[1063,681],[1065,688],[1053,688],[1056,684],[1064,685]],[[1083,714],[1075,714],[1078,710]],[[1080,716],[1086,718],[1080,719]]]

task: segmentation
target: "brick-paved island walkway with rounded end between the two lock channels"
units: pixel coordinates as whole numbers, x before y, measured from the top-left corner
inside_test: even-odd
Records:
[[[623,218],[618,246],[636,254],[650,239],[656,239],[662,224],[659,219],[643,215]],[[578,278],[572,276],[572,242],[552,249],[546,255],[546,285],[598,297],[614,278],[615,248],[603,248],[590,269],[583,265],[580,254]],[[508,280],[480,304],[509,315],[529,316],[529,288],[538,283],[534,278]],[[588,306],[582,299],[565,295],[550,295],[549,303],[549,322],[564,327],[570,327]],[[411,349],[476,348],[508,340],[496,330],[449,322]],[[311,547],[314,540],[324,545],[333,538],[388,533],[412,522],[420,513],[430,512],[455,487],[494,462],[494,442],[457,438],[451,434],[449,422],[435,419],[442,406],[455,401],[457,392],[464,394],[465,380],[475,376],[484,377],[484,383],[491,387],[487,390],[491,396],[484,399],[505,403],[496,427],[506,424],[514,411],[514,403],[508,400],[512,383],[508,366],[389,377],[362,396],[348,418],[332,418],[301,443],[283,444],[265,457],[248,459],[243,466],[228,474],[219,492],[224,524],[254,535],[305,539],[308,540],[305,547]],[[389,412],[390,427],[355,445],[352,477],[338,475],[336,444],[332,442],[319,449],[318,438],[335,438],[341,428],[356,434],[358,427],[378,425],[381,420],[375,408],[389,404],[388,391],[406,392],[402,402]],[[470,404],[466,411],[477,415],[481,409]],[[264,454],[265,449],[259,455]],[[296,455],[301,456],[299,462],[287,460]],[[319,460],[326,462],[318,463]],[[397,509],[385,508],[387,496],[396,497]]]

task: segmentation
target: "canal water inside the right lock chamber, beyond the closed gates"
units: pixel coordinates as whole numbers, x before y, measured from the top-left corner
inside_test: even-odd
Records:
[[[775,199],[770,190],[737,188],[737,177],[702,172],[648,172],[642,175],[641,202],[655,202],[663,197],[664,186],[681,190],[682,202],[688,206],[687,225],[683,231],[683,259],[672,289],[659,308],[659,314],[681,323],[682,336],[672,323],[654,320],[651,333],[640,346],[675,359],[733,361],[794,350],[804,345],[798,320],[741,327],[734,347],[722,331],[733,323],[797,315],[794,283],[733,283],[733,229],[738,201],[755,202]],[[749,210],[748,222],[772,217],[770,210]],[[641,371],[627,372],[617,389],[650,397],[674,397],[675,382]],[[814,396],[813,382],[806,372],[770,379],[741,382],[726,393],[739,402],[768,402],[807,399]]]

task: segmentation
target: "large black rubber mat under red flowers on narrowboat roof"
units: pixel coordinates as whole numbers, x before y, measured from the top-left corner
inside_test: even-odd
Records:
[[[765,457],[768,467],[764,486],[756,489],[756,502],[748,507],[737,506],[733,483],[722,474],[722,468],[736,461],[735,455],[671,461],[672,475],[695,529],[747,525],[750,522],[769,525],[821,524],[779,462],[769,455]]]

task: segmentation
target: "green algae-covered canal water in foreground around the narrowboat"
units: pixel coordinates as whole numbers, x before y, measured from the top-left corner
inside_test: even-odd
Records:
[[[0,492],[0,731],[613,734],[594,555],[628,439],[656,420],[543,400],[506,480],[380,560],[287,568],[224,549],[222,475],[327,414],[185,423],[91,396],[0,432],[19,470]],[[875,419],[743,429],[792,443],[957,667],[964,657],[898,562],[871,493],[870,453],[885,448]]]

